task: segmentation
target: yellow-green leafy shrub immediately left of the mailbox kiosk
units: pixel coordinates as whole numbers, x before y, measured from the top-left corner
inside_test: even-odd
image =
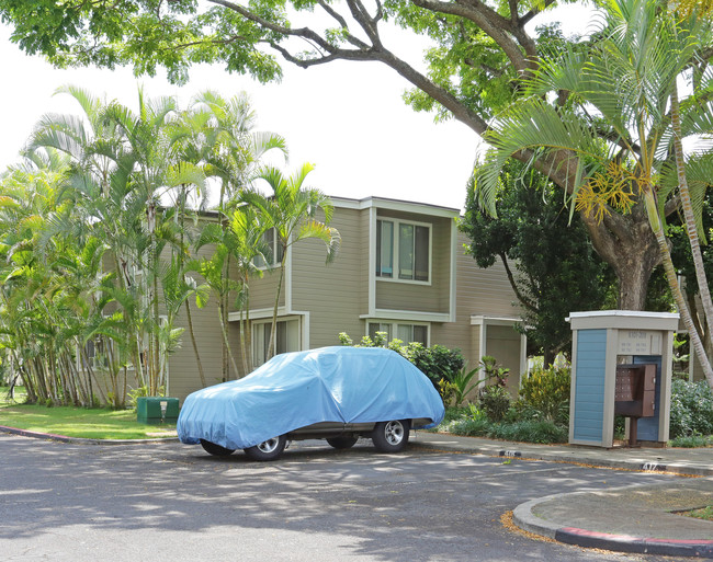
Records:
[[[535,368],[522,379],[520,402],[541,420],[566,423],[569,415],[569,367]]]

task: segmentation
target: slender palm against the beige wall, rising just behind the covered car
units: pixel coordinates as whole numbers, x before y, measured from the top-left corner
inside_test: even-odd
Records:
[[[240,195],[240,200],[254,207],[262,216],[265,226],[274,229],[276,255],[281,256],[280,280],[275,291],[267,358],[272,357],[274,353],[278,308],[284,283],[287,250],[301,240],[315,238],[321,240],[327,246],[327,263],[330,263],[337,256],[341,243],[339,231],[327,226],[333,210],[329,198],[318,190],[304,186],[307,174],[313,170],[313,164],[305,163],[292,176],[285,177],[276,168],[264,168],[259,179],[268,183],[272,188],[272,195],[264,196],[254,188],[245,190]],[[319,209],[324,213],[324,222],[315,218]]]

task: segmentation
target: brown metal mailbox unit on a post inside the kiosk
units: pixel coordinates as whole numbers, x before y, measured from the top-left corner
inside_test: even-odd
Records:
[[[630,445],[636,445],[640,417],[653,417],[656,412],[656,365],[618,365],[614,389],[614,414],[633,418],[629,426]]]

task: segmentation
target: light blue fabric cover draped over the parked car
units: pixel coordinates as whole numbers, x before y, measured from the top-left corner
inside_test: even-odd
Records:
[[[190,394],[178,418],[182,443],[252,447],[318,422],[443,420],[431,381],[382,347],[322,347],[276,355],[239,380]]]

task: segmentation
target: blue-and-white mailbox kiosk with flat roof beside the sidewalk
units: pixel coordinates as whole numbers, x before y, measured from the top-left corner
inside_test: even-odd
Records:
[[[615,413],[630,416],[627,431],[634,440],[653,446],[668,441],[678,318],[630,310],[569,314],[570,444],[612,447]]]

